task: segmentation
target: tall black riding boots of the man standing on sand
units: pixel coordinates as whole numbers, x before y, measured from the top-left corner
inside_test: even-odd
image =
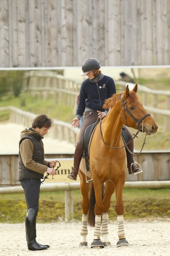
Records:
[[[30,251],[41,251],[48,249],[48,246],[42,246],[36,241],[36,220],[37,214],[34,208],[29,208],[25,217],[25,229],[27,246]]]

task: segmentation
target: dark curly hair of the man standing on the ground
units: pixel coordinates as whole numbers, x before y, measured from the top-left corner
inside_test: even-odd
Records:
[[[51,125],[52,125],[52,119],[51,118],[48,118],[46,116],[46,114],[40,114],[39,116],[36,116],[33,120],[33,123],[32,123],[32,127],[33,128],[42,128],[42,127],[46,127],[46,128],[50,128]]]

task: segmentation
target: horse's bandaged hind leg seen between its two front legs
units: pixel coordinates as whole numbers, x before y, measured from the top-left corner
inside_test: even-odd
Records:
[[[102,215],[102,224],[101,224],[101,235],[103,237],[103,244],[104,246],[110,245],[109,241],[109,231],[108,231],[108,221],[109,215],[108,211],[111,204],[111,197],[114,193],[115,186],[112,181],[106,181],[105,183],[105,194],[103,198],[103,215]]]

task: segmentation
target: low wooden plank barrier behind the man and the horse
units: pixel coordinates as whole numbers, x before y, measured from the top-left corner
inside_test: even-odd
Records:
[[[56,154],[45,155],[45,158],[52,158],[60,161],[60,158],[70,158],[74,155]],[[73,159],[73,158],[72,158]],[[170,180],[170,153],[169,152],[142,152],[138,156],[134,156],[134,161],[140,163],[143,172],[138,175],[129,175],[126,170],[126,181],[154,181],[154,180]],[[65,169],[61,166],[61,169]],[[72,167],[73,168],[73,167]],[[18,181],[18,155],[0,155],[0,186],[9,186],[20,184]],[[66,174],[69,171],[66,169]],[[65,173],[64,173],[65,174]],[[61,174],[62,175],[62,174]],[[63,177],[67,177],[67,175]],[[55,181],[56,182],[56,181]],[[65,182],[69,182],[67,178]]]

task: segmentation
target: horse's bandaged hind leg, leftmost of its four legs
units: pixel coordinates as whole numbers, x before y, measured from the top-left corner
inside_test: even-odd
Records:
[[[81,208],[82,208],[82,225],[81,225],[81,241],[79,246],[88,246],[87,242],[87,235],[88,235],[88,228],[87,228],[87,214],[89,210],[89,187],[90,183],[86,183],[85,175],[80,172],[80,192],[82,195],[81,199]]]

